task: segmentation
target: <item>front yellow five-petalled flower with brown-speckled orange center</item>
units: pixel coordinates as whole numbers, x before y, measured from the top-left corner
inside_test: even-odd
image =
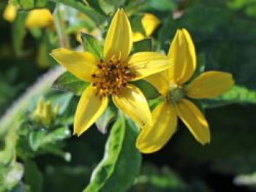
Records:
[[[102,59],[89,52],[53,50],[51,55],[59,64],[81,80],[91,82],[75,112],[74,134],[82,134],[102,115],[108,106],[108,96],[140,128],[151,126],[146,98],[129,82],[167,69],[170,59],[150,52],[129,56],[131,49],[132,29],[124,10],[118,9],[110,23]]]

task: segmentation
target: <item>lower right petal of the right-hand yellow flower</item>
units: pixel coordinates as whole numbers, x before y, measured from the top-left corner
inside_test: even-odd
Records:
[[[189,131],[200,144],[210,142],[211,135],[206,118],[191,101],[181,99],[177,104],[178,117],[185,123]]]

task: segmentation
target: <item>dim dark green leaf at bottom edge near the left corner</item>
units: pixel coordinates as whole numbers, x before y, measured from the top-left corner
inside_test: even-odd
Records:
[[[42,191],[42,173],[37,168],[34,161],[27,160],[25,162],[25,183],[30,186],[33,192]]]

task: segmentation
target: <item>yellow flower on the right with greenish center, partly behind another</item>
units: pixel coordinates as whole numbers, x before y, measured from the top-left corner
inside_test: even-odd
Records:
[[[165,98],[152,112],[154,126],[143,129],[136,141],[142,153],[161,149],[176,131],[178,117],[200,144],[210,142],[209,126],[204,115],[191,99],[213,98],[233,86],[233,77],[226,72],[204,72],[186,85],[196,69],[195,46],[187,30],[178,30],[170,45],[168,57],[173,66],[165,72],[146,77]]]

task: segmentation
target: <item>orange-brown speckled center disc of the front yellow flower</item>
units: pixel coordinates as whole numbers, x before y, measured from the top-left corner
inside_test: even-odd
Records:
[[[127,82],[135,78],[127,64],[116,58],[108,62],[100,61],[97,70],[91,74],[92,85],[97,89],[97,95],[118,95],[127,87]]]

